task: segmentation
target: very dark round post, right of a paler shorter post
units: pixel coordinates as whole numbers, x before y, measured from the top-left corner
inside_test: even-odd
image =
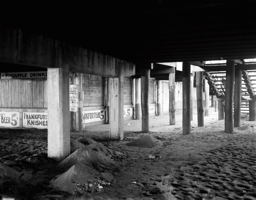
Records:
[[[190,63],[182,63],[182,134],[191,133],[191,83],[190,83]]]

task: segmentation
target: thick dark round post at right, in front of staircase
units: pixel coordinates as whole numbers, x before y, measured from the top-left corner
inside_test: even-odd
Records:
[[[227,60],[225,93],[225,133],[234,133],[233,99],[234,99],[235,61]]]

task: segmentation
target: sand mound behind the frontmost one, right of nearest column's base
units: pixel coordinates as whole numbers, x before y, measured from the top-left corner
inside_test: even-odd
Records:
[[[62,160],[57,166],[66,169],[78,163],[85,164],[94,169],[100,170],[102,165],[109,166],[114,164],[114,161],[103,153],[91,149],[80,148],[74,153],[70,154],[68,158]]]

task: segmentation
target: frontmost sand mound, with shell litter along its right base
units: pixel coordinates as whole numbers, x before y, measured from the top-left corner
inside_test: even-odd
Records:
[[[73,193],[76,189],[76,184],[86,184],[90,182],[111,181],[113,176],[111,174],[99,173],[96,170],[84,164],[76,164],[69,168],[69,170],[61,174],[57,179],[53,180],[53,188],[61,191]],[[109,177],[111,177],[109,179]]]

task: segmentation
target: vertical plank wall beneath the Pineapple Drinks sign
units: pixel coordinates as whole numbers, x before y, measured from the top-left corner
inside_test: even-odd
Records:
[[[47,79],[0,79],[0,107],[47,108]]]

